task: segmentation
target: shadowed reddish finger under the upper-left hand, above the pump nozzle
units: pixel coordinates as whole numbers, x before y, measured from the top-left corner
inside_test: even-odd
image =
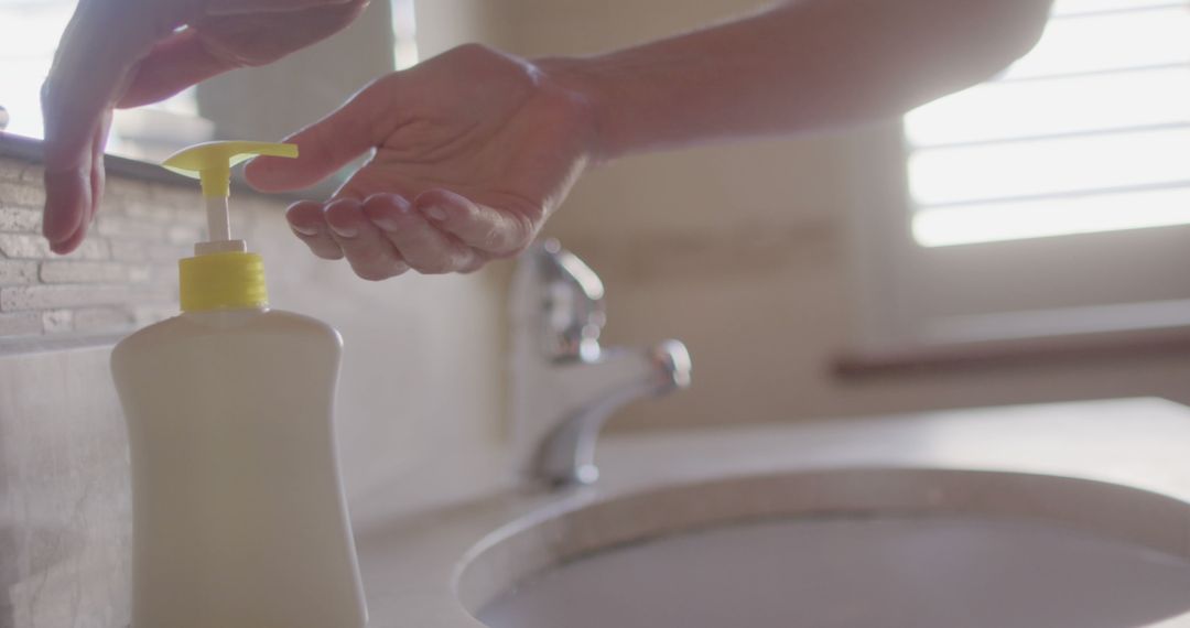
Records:
[[[215,55],[194,29],[176,32],[158,43],[137,63],[118,107],[139,107],[165,100],[212,76],[237,68],[234,59]]]

